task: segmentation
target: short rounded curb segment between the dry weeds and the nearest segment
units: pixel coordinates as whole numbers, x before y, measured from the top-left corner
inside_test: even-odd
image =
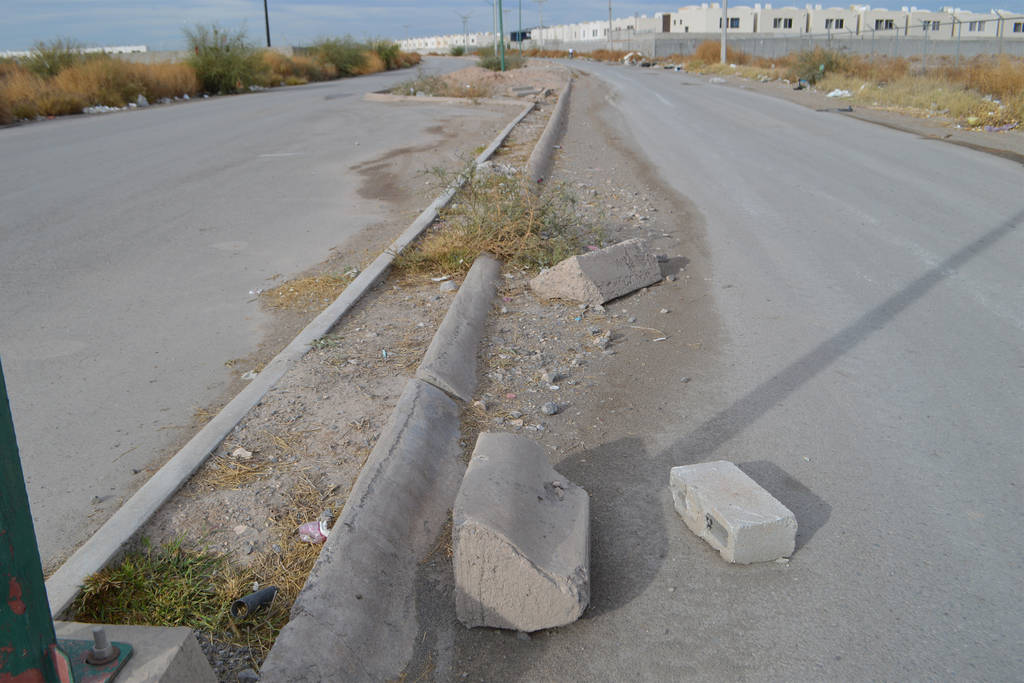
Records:
[[[502,264],[480,254],[423,356],[417,379],[469,402],[476,391],[476,350],[497,294]]]

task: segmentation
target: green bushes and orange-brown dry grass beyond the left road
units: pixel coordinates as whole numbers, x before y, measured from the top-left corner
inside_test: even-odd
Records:
[[[227,94],[302,85],[404,69],[420,55],[396,43],[324,38],[294,56],[253,45],[244,31],[217,26],[185,30],[189,57],[181,63],[134,63],[84,53],[69,38],[37,43],[22,59],[0,59],[0,125],[24,119],[81,114],[90,106],[123,108],[138,101]]]

